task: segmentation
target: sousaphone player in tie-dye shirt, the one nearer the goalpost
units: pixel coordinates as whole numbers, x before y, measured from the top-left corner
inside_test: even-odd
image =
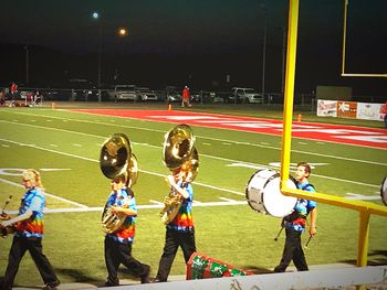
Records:
[[[164,253],[159,261],[154,282],[166,282],[179,247],[182,249],[186,264],[196,251],[195,226],[192,219],[194,189],[190,183],[190,165],[184,164],[168,175],[166,180],[170,190],[184,198],[176,217],[166,226]]]

